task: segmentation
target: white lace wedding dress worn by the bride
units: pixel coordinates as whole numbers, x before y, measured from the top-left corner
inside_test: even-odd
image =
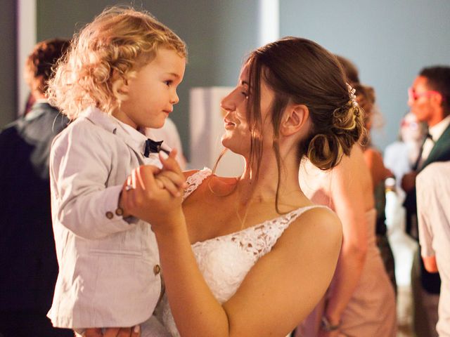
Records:
[[[210,169],[203,169],[189,177],[184,198],[195,191],[211,173]],[[231,298],[250,268],[259,258],[271,251],[290,223],[304,211],[314,207],[323,206],[302,207],[259,225],[193,244],[192,249],[200,272],[217,300],[224,303]],[[166,296],[162,299],[162,322],[171,336],[180,336]]]

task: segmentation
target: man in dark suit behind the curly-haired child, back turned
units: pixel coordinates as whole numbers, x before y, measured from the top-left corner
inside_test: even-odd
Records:
[[[35,100],[30,112],[0,133],[0,336],[73,336],[53,329],[51,307],[58,275],[51,226],[49,154],[68,120],[46,102],[51,67],[67,40],[42,41],[25,73]]]

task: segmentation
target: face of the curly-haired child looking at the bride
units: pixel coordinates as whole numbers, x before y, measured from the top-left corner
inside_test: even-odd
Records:
[[[113,116],[134,128],[161,128],[179,101],[176,87],[183,80],[185,67],[185,58],[172,49],[160,48],[122,87],[128,98]]]

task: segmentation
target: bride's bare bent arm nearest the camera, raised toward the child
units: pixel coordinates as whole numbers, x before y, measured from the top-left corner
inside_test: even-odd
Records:
[[[151,177],[143,180],[152,184]],[[331,211],[314,209],[300,216],[221,305],[195,261],[178,201],[166,194],[151,203],[153,212],[145,220],[158,240],[167,296],[181,336],[284,336],[328,287],[342,240],[339,220]],[[162,213],[167,207],[172,211],[160,217],[154,211],[160,207]]]

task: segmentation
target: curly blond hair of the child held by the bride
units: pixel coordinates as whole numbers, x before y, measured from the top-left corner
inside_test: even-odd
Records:
[[[187,58],[184,41],[150,13],[108,8],[75,34],[49,81],[49,101],[70,119],[90,105],[111,114],[126,99],[122,85],[161,47]]]

